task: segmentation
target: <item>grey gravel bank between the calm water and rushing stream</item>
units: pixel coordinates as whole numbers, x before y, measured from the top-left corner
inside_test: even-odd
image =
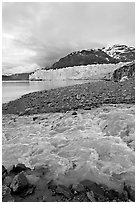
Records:
[[[135,104],[135,80],[98,81],[23,95],[2,104],[3,114],[33,115],[91,109],[103,104]]]

